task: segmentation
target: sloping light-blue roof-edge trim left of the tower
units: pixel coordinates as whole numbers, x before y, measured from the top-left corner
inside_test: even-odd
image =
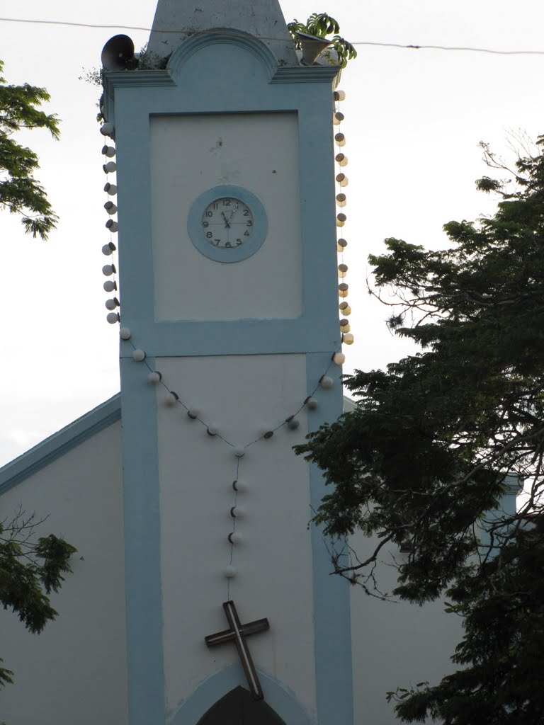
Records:
[[[0,496],[120,418],[118,393],[0,468]]]

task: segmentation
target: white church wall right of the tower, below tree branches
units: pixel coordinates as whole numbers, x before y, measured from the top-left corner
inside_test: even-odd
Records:
[[[356,535],[350,543],[363,560],[378,542]],[[382,552],[376,573],[383,592],[395,588],[395,570],[387,566],[390,555],[405,556],[396,548]],[[419,607],[368,597],[360,587],[350,592],[354,723],[398,725],[386,692],[424,681],[437,684],[452,672],[449,657],[461,639],[461,622],[444,612],[442,601]]]

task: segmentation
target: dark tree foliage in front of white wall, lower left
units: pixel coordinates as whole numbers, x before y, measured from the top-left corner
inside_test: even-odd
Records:
[[[54,534],[36,538],[43,521],[20,510],[11,521],[0,523],[0,603],[33,634],[57,617],[49,595],[59,591],[72,571],[70,556],[76,551]],[[0,687],[12,682],[12,675],[0,667]]]

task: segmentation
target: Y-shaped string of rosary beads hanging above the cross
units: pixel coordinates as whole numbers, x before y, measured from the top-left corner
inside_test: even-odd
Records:
[[[316,394],[319,389],[323,390],[329,390],[332,386],[334,386],[334,379],[331,378],[327,373],[329,373],[329,370],[331,368],[331,365],[338,365],[341,366],[345,361],[345,355],[342,352],[334,352],[331,355],[331,359],[329,361],[329,365],[327,365],[327,368],[321,378],[318,379],[316,382],[313,391],[310,395],[305,397],[305,399],[298,405],[296,410],[294,410],[294,413],[291,413],[290,415],[287,415],[286,418],[284,418],[283,421],[278,423],[276,426],[271,426],[270,428],[263,429],[261,431],[256,431],[255,438],[252,439],[250,442],[247,442],[245,444],[235,444],[234,442],[231,442],[226,438],[225,436],[221,435],[221,432],[218,430],[217,426],[215,424],[207,422],[202,418],[202,413],[197,407],[192,407],[189,405],[186,405],[186,403],[181,399],[181,397],[171,389],[170,385],[167,381],[165,381],[162,377],[162,373],[160,373],[159,370],[154,370],[151,365],[149,365],[147,361],[147,355],[144,352],[143,349],[136,347],[133,344],[132,341],[132,334],[131,331],[128,328],[122,327],[120,328],[120,337],[123,341],[128,342],[132,347],[132,359],[136,363],[144,363],[145,367],[147,367],[147,370],[149,370],[149,373],[147,375],[147,380],[149,384],[152,385],[160,385],[162,386],[162,389],[165,391],[165,397],[163,399],[164,405],[167,407],[181,407],[189,420],[195,421],[197,423],[200,423],[202,428],[204,428],[205,433],[208,436],[213,436],[215,438],[218,438],[219,440],[223,441],[226,445],[230,446],[232,449],[232,452],[234,454],[234,457],[236,459],[235,469],[234,469],[234,481],[232,481],[232,489],[233,489],[233,497],[232,497],[232,505],[230,510],[228,511],[228,515],[231,517],[232,523],[231,523],[231,531],[229,531],[227,535],[228,544],[229,544],[229,558],[228,558],[228,564],[223,569],[223,575],[227,579],[227,595],[230,597],[230,584],[231,579],[234,578],[237,574],[236,566],[235,566],[235,548],[242,544],[244,542],[244,537],[241,531],[239,531],[239,521],[243,520],[245,516],[247,515],[246,510],[243,506],[239,505],[239,494],[243,494],[246,490],[246,484],[244,481],[240,478],[240,471],[242,468],[242,459],[248,452],[248,450],[257,444],[260,441],[269,441],[271,438],[273,438],[276,431],[279,431],[280,428],[287,428],[290,431],[296,431],[297,428],[300,426],[300,419],[299,414],[302,410],[308,409],[308,410],[316,410],[316,407],[318,407],[318,399],[316,397]]]

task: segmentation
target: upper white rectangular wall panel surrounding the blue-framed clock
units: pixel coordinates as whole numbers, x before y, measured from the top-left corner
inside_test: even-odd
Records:
[[[297,115],[159,116],[150,124],[155,318],[300,316]],[[192,202],[218,184],[257,194],[268,215],[263,247],[236,264],[208,259],[187,233]]]

